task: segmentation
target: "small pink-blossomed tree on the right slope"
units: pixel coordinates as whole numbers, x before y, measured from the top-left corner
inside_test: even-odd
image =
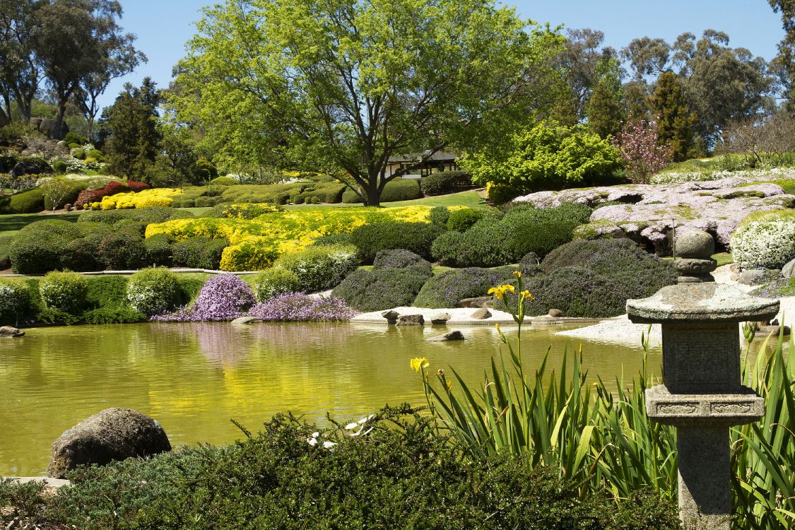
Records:
[[[632,120],[626,122],[613,139],[624,161],[626,176],[635,184],[648,184],[649,177],[665,168],[671,160],[668,145],[659,145],[657,121]]]

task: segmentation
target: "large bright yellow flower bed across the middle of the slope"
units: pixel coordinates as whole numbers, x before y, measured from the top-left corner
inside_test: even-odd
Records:
[[[115,196],[115,195],[114,195]],[[312,245],[317,238],[347,234],[357,226],[373,222],[428,222],[431,207],[400,208],[318,208],[280,211],[256,219],[175,219],[146,227],[146,237],[169,234],[176,240],[204,236],[227,238],[221,269],[260,270],[273,265],[277,257]]]

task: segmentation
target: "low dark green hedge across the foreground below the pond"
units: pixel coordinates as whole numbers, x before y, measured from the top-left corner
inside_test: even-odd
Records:
[[[81,468],[70,474],[72,487],[46,501],[41,486],[2,482],[0,503],[16,507],[23,524],[82,530],[679,528],[674,503],[652,493],[618,505],[604,492],[580,497],[579,485],[529,458],[472,461],[427,416],[384,416],[351,437],[277,415],[231,446]],[[339,444],[308,444],[315,432]]]

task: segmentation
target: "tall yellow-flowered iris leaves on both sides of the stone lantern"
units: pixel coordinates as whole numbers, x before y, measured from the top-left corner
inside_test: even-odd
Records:
[[[522,278],[518,277],[522,292]],[[500,290],[502,289],[502,290]],[[580,485],[580,493],[607,489],[616,501],[638,489],[652,488],[661,497],[677,495],[676,430],[646,416],[645,391],[653,384],[646,371],[649,342],[643,339],[640,373],[625,385],[616,381],[611,392],[599,379],[589,385],[582,368],[583,351],[564,351],[560,372],[549,366],[549,350],[541,365],[525,372],[522,320],[529,293],[510,296],[512,288],[494,292],[518,324],[517,339],[509,340],[506,357],[491,360],[483,383],[463,381],[456,369],[429,381],[429,363],[421,371],[438,428],[448,431],[471,455],[528,454],[539,465],[556,467],[561,477]],[[526,293],[526,294],[525,294]],[[747,339],[754,339],[747,331]],[[753,367],[743,368],[743,381],[759,393],[766,413],[754,424],[731,429],[731,490],[734,528],[793,528],[795,526],[795,345],[785,354],[783,331],[767,337]],[[746,351],[746,359],[749,351]],[[423,359],[425,361],[425,359]],[[657,381],[659,382],[659,381]]]

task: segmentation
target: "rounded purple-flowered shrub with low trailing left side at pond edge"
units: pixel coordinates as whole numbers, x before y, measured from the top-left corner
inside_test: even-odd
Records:
[[[173,313],[155,315],[157,322],[204,322],[208,320],[234,320],[246,315],[254,305],[254,292],[234,274],[211,277],[199,292],[196,302],[189,308]]]

